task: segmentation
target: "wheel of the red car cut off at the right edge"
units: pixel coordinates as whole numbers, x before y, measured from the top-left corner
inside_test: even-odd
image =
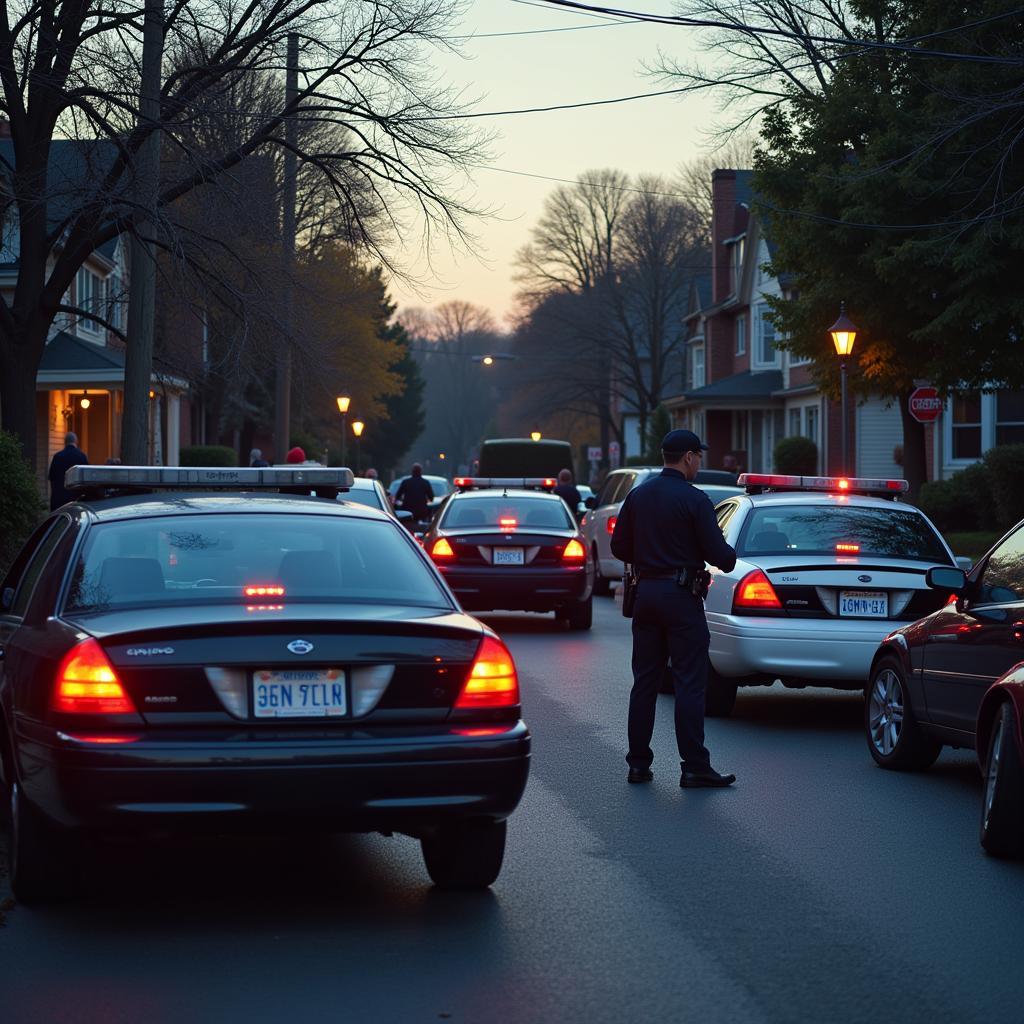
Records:
[[[980,838],[985,852],[993,857],[1024,856],[1024,766],[1017,717],[1009,702],[995,716],[985,752]]]

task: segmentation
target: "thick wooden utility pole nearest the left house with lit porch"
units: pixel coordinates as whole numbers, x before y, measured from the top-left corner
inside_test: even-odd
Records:
[[[164,3],[145,0],[142,23],[142,87],[138,126],[150,128],[135,158],[135,229],[131,237],[128,295],[128,347],[125,351],[124,419],[121,459],[144,466],[150,446],[150,379],[157,299],[157,258],[152,242],[157,231],[160,188],[160,82],[164,57]],[[159,424],[157,425],[159,429]]]

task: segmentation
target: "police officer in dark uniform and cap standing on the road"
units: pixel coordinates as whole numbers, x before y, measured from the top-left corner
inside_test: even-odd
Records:
[[[612,554],[632,565],[639,578],[626,756],[630,782],[653,778],[654,708],[670,659],[682,761],[679,784],[721,786],[736,780],[735,775],[712,768],[703,744],[710,642],[703,609],[705,563],[726,572],[736,564],[736,553],[722,537],[711,499],[690,482],[707,449],[689,430],[669,431],[662,439],[665,469],[626,496],[611,536]]]

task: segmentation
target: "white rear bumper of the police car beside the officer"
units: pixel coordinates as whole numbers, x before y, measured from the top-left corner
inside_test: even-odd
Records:
[[[882,640],[906,623],[708,615],[711,662],[723,676],[867,682]]]

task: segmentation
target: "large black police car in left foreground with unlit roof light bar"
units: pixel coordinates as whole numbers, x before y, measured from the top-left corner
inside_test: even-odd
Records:
[[[441,887],[497,878],[528,769],[515,666],[391,515],[333,500],[350,481],[69,472],[80,498],[0,592],[18,899],[93,833],[393,830]]]

